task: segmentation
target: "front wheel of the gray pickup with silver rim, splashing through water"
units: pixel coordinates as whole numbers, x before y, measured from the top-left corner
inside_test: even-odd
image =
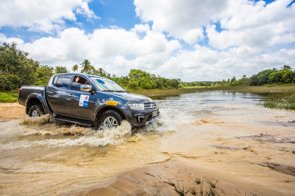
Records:
[[[112,128],[118,127],[123,120],[123,117],[120,113],[114,110],[107,110],[102,113],[102,116],[99,118],[96,129],[103,128]]]

